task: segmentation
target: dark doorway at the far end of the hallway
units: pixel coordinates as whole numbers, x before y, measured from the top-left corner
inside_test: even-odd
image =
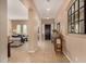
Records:
[[[51,24],[45,24],[45,40],[51,40]]]

